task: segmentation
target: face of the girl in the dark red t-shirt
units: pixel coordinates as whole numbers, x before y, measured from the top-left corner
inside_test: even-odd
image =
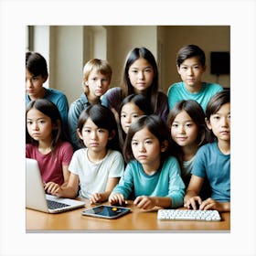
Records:
[[[38,142],[51,142],[52,130],[56,128],[48,115],[31,109],[27,112],[27,132]]]

